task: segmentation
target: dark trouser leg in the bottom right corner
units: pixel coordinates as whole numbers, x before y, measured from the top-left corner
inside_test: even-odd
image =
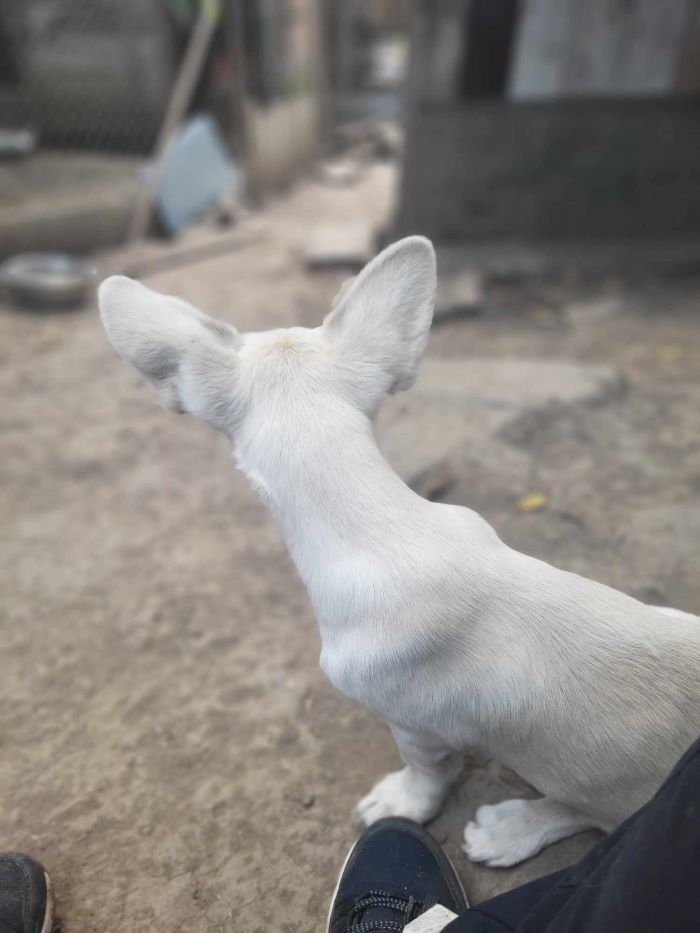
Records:
[[[578,864],[477,904],[444,933],[698,933],[700,739]]]

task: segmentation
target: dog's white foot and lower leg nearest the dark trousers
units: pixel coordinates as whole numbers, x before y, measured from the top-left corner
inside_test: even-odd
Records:
[[[474,862],[506,868],[592,828],[599,828],[594,819],[548,797],[504,800],[479,807],[464,830],[464,851]]]

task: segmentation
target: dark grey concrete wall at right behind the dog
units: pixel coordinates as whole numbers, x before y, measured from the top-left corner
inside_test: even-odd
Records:
[[[439,240],[700,232],[700,100],[423,105],[396,227]]]

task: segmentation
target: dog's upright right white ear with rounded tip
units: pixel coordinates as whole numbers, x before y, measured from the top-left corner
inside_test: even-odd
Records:
[[[358,404],[376,408],[415,381],[433,317],[435,251],[430,240],[399,240],[346,283],[323,322]]]

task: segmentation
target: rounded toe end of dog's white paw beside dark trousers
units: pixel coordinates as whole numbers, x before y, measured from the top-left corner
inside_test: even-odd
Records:
[[[517,865],[539,852],[540,827],[533,825],[528,800],[504,800],[479,807],[464,830],[464,851],[492,868]]]

